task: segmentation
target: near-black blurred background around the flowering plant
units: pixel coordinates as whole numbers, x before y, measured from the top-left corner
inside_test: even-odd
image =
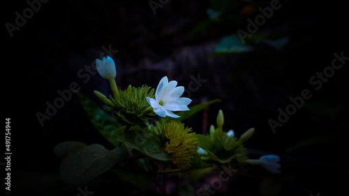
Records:
[[[269,6],[269,1],[250,3],[255,8]],[[347,183],[340,178],[348,177],[348,61],[319,90],[309,79],[331,65],[334,52],[349,56],[346,6],[339,1],[280,3],[282,7],[274,10],[258,33],[281,32],[289,38],[288,44],[276,50],[261,42],[253,45],[255,51],[215,58],[211,56],[214,45],[238,28],[246,30],[246,19],[254,19],[258,10],[240,14],[234,24],[227,19],[191,35],[195,26],[208,19],[209,1],[172,0],[157,8],[154,15],[148,1],[52,0],[41,3],[40,10],[14,31],[12,38],[3,25],[3,113],[11,118],[12,174],[57,172],[60,161],[52,149],[59,142],[108,145],[89,122],[75,94],[44,126],[36,113],[45,113],[46,101],[52,104],[59,97],[57,90],[67,90],[73,82],[82,94],[101,104],[93,90],[110,93],[107,81],[96,74],[85,83],[77,72],[100,58],[102,47],[111,47],[118,51],[113,59],[121,89],[129,84],[156,88],[165,75],[186,89],[191,76],[200,74],[206,79],[191,93],[191,105],[217,98],[222,101],[186,120],[186,125],[206,133],[222,109],[225,131],[234,129],[240,136],[255,127],[255,135],[246,143],[250,157],[281,156],[283,172],[278,180],[282,186],[277,194],[345,194]],[[246,1],[228,13],[239,15],[248,4]],[[27,7],[25,1],[6,2],[3,24],[15,24],[15,12],[22,13]],[[284,110],[291,103],[289,97],[300,96],[305,88],[313,97],[273,133],[268,120],[277,120],[278,108]],[[300,147],[290,151],[297,144]],[[1,179],[3,170],[1,167]],[[214,174],[218,173],[193,183],[193,188],[209,183]],[[261,195],[260,184],[270,176],[261,168],[246,168],[216,194]],[[89,190],[94,190],[94,195],[120,195],[121,190],[128,194],[134,189],[128,183],[116,182],[104,174],[89,183]],[[152,191],[150,188],[148,193]],[[25,193],[31,195],[31,190]],[[52,195],[78,193],[57,190]]]

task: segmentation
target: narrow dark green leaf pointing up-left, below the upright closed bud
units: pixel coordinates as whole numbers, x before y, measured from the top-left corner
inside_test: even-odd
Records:
[[[98,132],[101,133],[105,139],[111,142],[114,146],[117,146],[119,142],[115,136],[118,136],[119,134],[114,132],[121,126],[121,124],[99,108],[94,101],[91,101],[91,99],[80,93],[78,93],[78,95],[80,97],[82,107],[86,111],[91,123],[94,124]]]

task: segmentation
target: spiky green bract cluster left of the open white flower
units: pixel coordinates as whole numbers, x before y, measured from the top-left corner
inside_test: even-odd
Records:
[[[105,105],[107,111],[112,111],[112,115],[127,124],[146,124],[154,117],[151,106],[147,102],[147,97],[154,97],[154,89],[147,85],[135,88],[128,85],[126,90],[119,91],[119,97],[110,96],[114,106]]]

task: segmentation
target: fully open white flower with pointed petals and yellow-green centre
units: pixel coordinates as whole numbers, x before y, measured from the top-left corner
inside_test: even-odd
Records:
[[[168,82],[168,77],[164,76],[158,83],[156,88],[155,99],[147,97],[147,101],[154,109],[154,113],[161,117],[166,115],[170,117],[179,117],[172,111],[188,111],[188,104],[191,103],[191,99],[181,97],[184,92],[183,86],[178,86],[177,81]]]

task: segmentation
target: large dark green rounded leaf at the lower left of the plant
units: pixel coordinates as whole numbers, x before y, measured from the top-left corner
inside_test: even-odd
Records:
[[[77,188],[89,183],[127,156],[126,147],[107,150],[102,145],[89,145],[68,154],[59,171],[66,188]]]

